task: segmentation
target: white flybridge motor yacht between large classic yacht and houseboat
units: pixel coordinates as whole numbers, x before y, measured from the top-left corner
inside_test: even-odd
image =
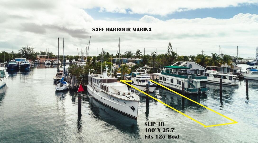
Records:
[[[146,91],[146,84],[149,84],[149,92],[155,91],[157,85],[150,81],[150,75],[147,74],[145,69],[140,68],[132,73],[131,85],[142,91]]]

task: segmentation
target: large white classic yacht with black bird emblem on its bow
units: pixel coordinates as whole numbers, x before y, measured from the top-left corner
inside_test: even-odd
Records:
[[[137,92],[127,88],[126,84],[117,82],[117,78],[108,76],[107,65],[103,74],[94,74],[94,71],[96,70],[88,74],[87,91],[89,94],[106,106],[137,119],[140,101],[140,97],[135,94]]]

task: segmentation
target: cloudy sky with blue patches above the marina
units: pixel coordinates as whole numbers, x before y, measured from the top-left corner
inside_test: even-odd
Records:
[[[0,0],[0,51],[22,46],[65,54],[140,49],[166,53],[171,42],[179,55],[219,53],[253,57],[258,46],[258,0],[50,1]],[[151,32],[93,32],[93,27],[151,27]],[[60,40],[62,45],[62,41]]]

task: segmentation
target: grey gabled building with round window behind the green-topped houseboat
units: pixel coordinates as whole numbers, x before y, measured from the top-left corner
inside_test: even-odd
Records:
[[[172,66],[183,66],[183,67],[188,67],[190,68],[189,71],[191,74],[200,74],[203,75],[203,73],[205,72],[205,68],[199,64],[197,64],[196,62],[176,62],[174,64],[172,64]],[[181,69],[180,72],[187,72],[187,69]]]

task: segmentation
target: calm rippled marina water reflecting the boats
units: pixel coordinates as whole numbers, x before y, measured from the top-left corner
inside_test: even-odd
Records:
[[[155,100],[150,99],[146,107],[144,95],[138,120],[92,98],[83,99],[78,118],[76,94],[55,92],[55,71],[42,64],[27,72],[9,72],[6,86],[0,89],[0,142],[257,142],[258,81],[249,80],[248,96],[245,81],[240,81],[239,86],[223,86],[222,102],[217,84],[207,84],[206,94],[190,97],[238,122],[204,128]],[[231,122],[191,101],[182,107],[181,97],[165,89],[151,95],[205,125]],[[164,122],[163,128],[175,128],[167,134],[180,139],[144,139],[145,134],[162,134],[146,133],[146,121]]]

